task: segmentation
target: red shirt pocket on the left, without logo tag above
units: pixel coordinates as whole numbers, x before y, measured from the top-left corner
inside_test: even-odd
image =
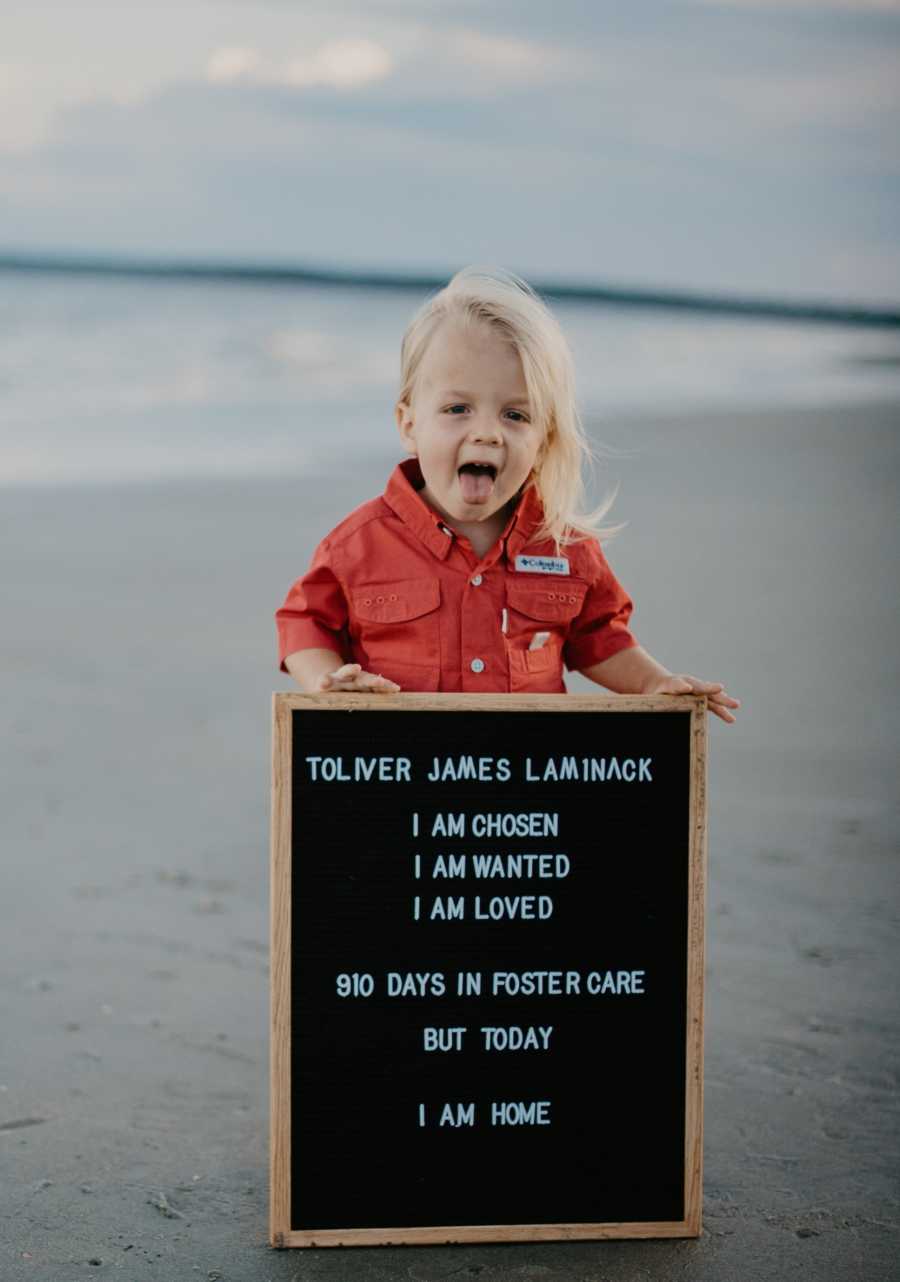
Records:
[[[441,583],[405,578],[367,583],[351,594],[351,636],[364,668],[406,690],[437,690],[441,667]]]

